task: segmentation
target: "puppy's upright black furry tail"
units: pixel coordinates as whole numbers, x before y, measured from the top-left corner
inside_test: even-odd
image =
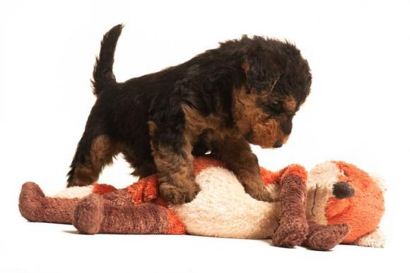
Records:
[[[91,80],[94,95],[98,96],[103,90],[112,88],[117,84],[112,73],[112,64],[114,64],[117,40],[123,27],[122,24],[115,25],[102,37],[100,55],[95,59],[93,80]]]

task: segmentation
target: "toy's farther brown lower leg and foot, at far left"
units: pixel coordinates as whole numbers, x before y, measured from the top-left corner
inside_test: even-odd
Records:
[[[35,182],[21,187],[18,209],[28,221],[71,223],[79,198],[46,197]]]

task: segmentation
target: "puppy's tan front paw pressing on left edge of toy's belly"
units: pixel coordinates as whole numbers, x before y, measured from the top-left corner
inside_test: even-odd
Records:
[[[192,182],[192,185],[173,185],[170,182],[162,182],[160,184],[160,194],[164,199],[167,199],[173,204],[184,204],[191,202],[198,194],[199,186]]]

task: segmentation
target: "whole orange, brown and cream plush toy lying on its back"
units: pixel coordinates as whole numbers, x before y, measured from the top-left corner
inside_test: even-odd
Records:
[[[329,161],[309,173],[300,165],[261,168],[274,202],[247,194],[223,163],[194,161],[201,191],[192,202],[168,204],[156,175],[117,190],[111,185],[69,187],[46,197],[34,182],[21,190],[19,209],[29,221],[73,223],[81,233],[184,234],[272,238],[274,245],[329,250],[339,243],[382,247],[377,226],[384,212],[382,181],[354,165]]]

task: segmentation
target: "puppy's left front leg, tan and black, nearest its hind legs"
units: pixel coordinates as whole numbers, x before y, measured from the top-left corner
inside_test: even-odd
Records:
[[[191,202],[199,192],[192,165],[192,145],[183,134],[156,132],[152,122],[150,131],[161,196],[173,204]]]

